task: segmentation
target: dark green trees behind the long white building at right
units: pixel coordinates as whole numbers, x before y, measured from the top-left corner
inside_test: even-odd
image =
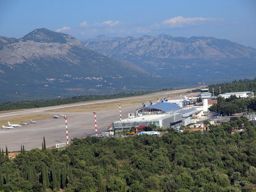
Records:
[[[218,96],[221,92],[228,93],[228,92],[243,92],[243,91],[251,91],[256,93],[256,79],[254,80],[239,80],[233,81],[231,83],[218,83],[212,84],[208,86],[209,92],[212,93],[212,88],[214,88],[214,95]]]

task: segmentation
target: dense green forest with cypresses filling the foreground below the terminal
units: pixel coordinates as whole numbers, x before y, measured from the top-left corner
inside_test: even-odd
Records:
[[[231,134],[232,127],[244,125]],[[46,138],[47,140],[47,138]],[[7,155],[6,155],[7,154]],[[0,157],[0,191],[253,192],[256,128],[242,116],[208,132],[74,138],[63,150],[21,147]]]

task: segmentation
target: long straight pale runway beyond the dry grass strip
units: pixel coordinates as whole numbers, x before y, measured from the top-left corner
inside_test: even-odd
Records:
[[[188,92],[188,91],[191,91],[191,90],[194,90],[194,89],[197,89],[197,88],[201,88],[201,87],[185,88],[185,89],[179,89],[179,90],[170,90],[170,91],[164,92],[164,93],[156,93],[156,94],[149,94],[149,95],[142,95],[142,96],[134,96],[134,97],[126,97],[126,98],[118,98],[118,99],[109,99],[109,100],[94,101],[94,102],[84,102],[84,103],[76,103],[76,104],[67,104],[67,105],[61,105],[61,106],[35,108],[35,109],[29,109],[29,110],[23,110],[23,111],[2,113],[2,114],[0,114],[0,118],[1,117],[14,116],[14,115],[20,115],[20,114],[40,113],[40,112],[46,111],[46,110],[62,109],[62,108],[67,108],[67,107],[75,107],[75,106],[91,105],[91,104],[98,104],[98,103],[107,103],[107,102],[115,102],[115,101],[122,101],[122,100],[127,100],[127,99],[147,98],[147,97],[152,97],[152,96],[157,97],[157,96],[166,95],[166,94],[179,94],[179,93]]]

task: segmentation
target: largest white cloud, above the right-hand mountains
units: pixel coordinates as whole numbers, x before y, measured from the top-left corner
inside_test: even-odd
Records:
[[[154,24],[155,28],[175,28],[175,27],[183,27],[183,26],[196,26],[200,24],[204,24],[206,22],[214,22],[215,18],[203,18],[203,17],[188,17],[184,18],[181,16],[170,18],[163,20],[160,24]]]

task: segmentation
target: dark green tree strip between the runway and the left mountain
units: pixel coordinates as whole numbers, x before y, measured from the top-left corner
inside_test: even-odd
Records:
[[[163,91],[168,89],[162,89],[158,91]],[[132,96],[140,96],[158,91],[141,91],[141,92],[120,92],[108,95],[82,95],[82,96],[72,96],[68,98],[59,98],[52,100],[33,100],[33,101],[17,101],[17,102],[2,102],[0,103],[0,111],[5,110],[15,110],[15,109],[29,109],[29,108],[40,108],[48,106],[56,106],[63,104],[70,104],[75,102],[84,102],[90,100],[105,100],[105,99],[115,99],[124,98]]]

